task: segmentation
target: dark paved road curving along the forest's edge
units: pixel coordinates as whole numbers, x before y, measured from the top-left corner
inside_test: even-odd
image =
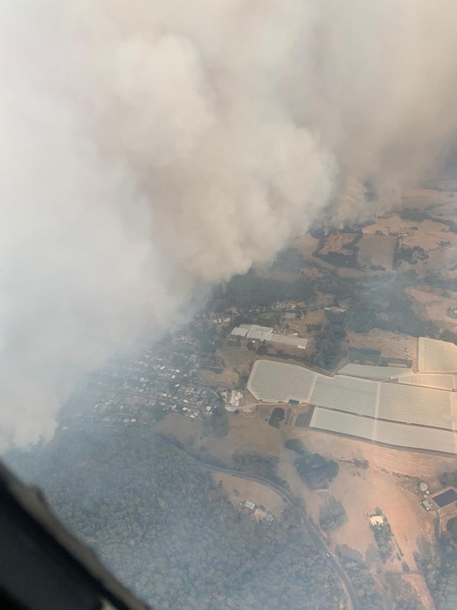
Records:
[[[347,573],[340,566],[340,563],[337,558],[333,554],[331,554],[330,549],[326,545],[326,541],[324,540],[323,536],[318,531],[314,523],[311,521],[311,519],[309,519],[309,516],[304,510],[300,500],[297,500],[297,498],[295,498],[295,496],[292,495],[289,490],[283,488],[281,485],[278,485],[278,483],[270,481],[269,478],[264,478],[263,476],[257,476],[255,474],[245,474],[244,472],[240,472],[238,470],[231,470],[227,468],[221,468],[219,466],[211,466],[210,464],[205,464],[205,462],[201,462],[200,459],[197,459],[193,455],[188,454],[188,452],[186,452],[184,449],[181,449],[181,447],[176,447],[172,440],[163,438],[162,436],[160,436],[160,434],[157,433],[153,433],[153,435],[155,436],[155,438],[157,438],[159,442],[165,443],[165,445],[169,445],[170,447],[174,447],[174,450],[186,455],[188,459],[191,459],[202,469],[210,470],[213,472],[225,472],[233,476],[246,478],[249,481],[257,481],[257,483],[263,483],[263,485],[267,485],[267,487],[275,490],[279,495],[281,495],[285,500],[287,500],[289,504],[291,504],[292,507],[297,509],[297,511],[299,512],[300,516],[302,517],[304,526],[307,528],[309,537],[311,538],[312,542],[314,542],[314,545],[316,545],[318,549],[322,549],[323,552],[328,554],[328,561],[332,565],[334,571],[337,573],[337,576],[342,581],[343,587],[345,588],[345,592],[349,602],[349,610],[360,610],[359,600],[357,599],[356,592],[354,590],[354,587],[352,586],[351,580],[349,580],[349,576],[347,576]]]

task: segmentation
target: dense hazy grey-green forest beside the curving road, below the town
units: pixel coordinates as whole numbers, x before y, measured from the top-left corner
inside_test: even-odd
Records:
[[[255,521],[145,432],[67,431],[9,461],[157,609],[340,608],[340,581],[292,513]]]

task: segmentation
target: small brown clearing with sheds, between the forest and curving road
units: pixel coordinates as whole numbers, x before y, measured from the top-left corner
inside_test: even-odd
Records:
[[[245,478],[224,472],[214,472],[212,477],[216,485],[219,484],[219,481],[222,483],[236,508],[240,508],[240,502],[249,500],[258,506],[264,506],[266,512],[273,514],[276,519],[281,519],[281,511],[287,506],[287,503],[276,491],[257,481],[247,481]]]

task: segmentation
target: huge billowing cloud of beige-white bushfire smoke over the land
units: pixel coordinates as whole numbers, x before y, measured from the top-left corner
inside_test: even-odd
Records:
[[[330,203],[454,144],[453,0],[3,0],[0,450]]]

